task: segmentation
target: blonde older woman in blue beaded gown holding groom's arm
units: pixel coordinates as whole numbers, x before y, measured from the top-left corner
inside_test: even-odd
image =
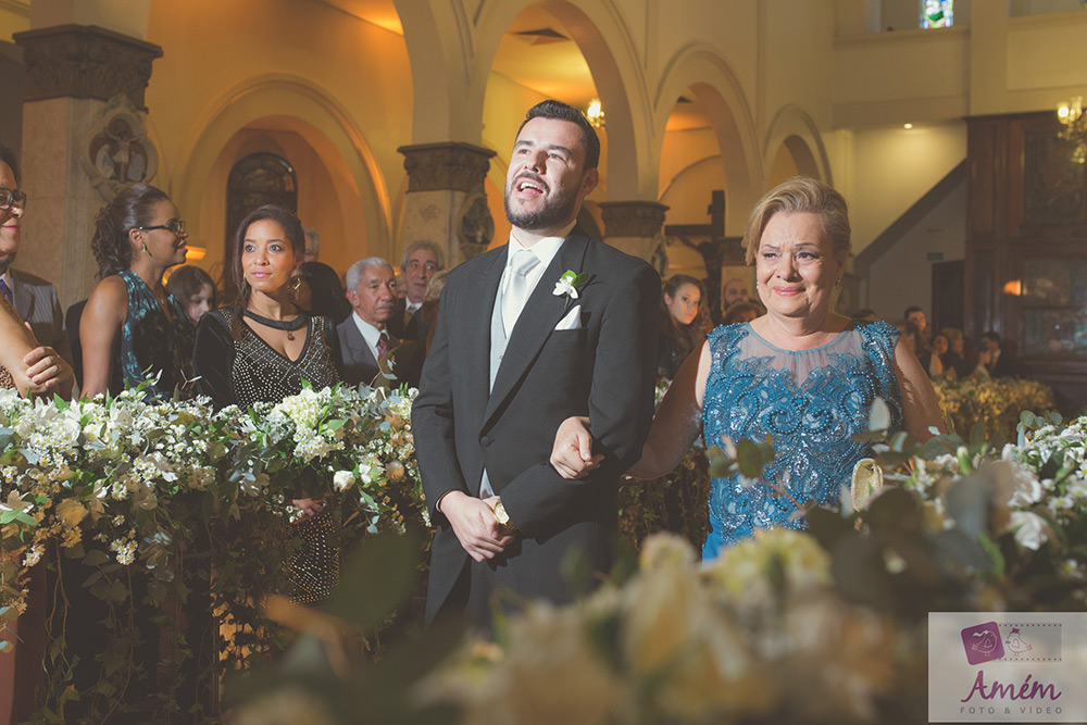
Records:
[[[853,465],[870,454],[852,437],[867,430],[876,398],[890,409],[892,428],[921,440],[932,436],[930,427],[942,428],[932,383],[898,330],[832,309],[849,235],[845,199],[821,182],[795,177],[763,197],[745,246],[766,314],[716,328],[687,359],[629,472],[638,478],[667,474],[700,434],[711,446],[773,436],[777,455],[764,483],[713,479],[704,559],[754,529],[804,527],[798,503],[836,504]],[[551,462],[564,476],[579,477],[599,464],[590,430],[584,417],[559,429]]]

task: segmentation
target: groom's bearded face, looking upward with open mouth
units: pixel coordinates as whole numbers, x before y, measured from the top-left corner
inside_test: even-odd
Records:
[[[586,186],[582,130],[569,121],[529,120],[513,147],[505,177],[505,217],[539,232],[565,226],[577,215]]]

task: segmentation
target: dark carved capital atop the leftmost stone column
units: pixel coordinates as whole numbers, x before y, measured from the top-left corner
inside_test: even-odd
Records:
[[[95,25],[58,25],[16,33],[26,64],[27,101],[125,96],[146,111],[151,61],[162,48]]]

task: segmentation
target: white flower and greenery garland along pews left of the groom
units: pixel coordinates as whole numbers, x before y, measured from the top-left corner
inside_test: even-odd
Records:
[[[0,607],[21,611],[16,585],[51,540],[105,541],[117,563],[172,576],[152,560],[168,557],[171,530],[186,526],[174,520],[177,496],[205,498],[204,509],[224,516],[243,509],[287,515],[288,493],[305,471],[329,493],[358,497],[370,530],[402,530],[395,500],[425,513],[414,395],[305,387],[247,412],[214,411],[207,400],[149,402],[142,387],[71,403],[0,390],[2,545],[25,549],[0,562]]]

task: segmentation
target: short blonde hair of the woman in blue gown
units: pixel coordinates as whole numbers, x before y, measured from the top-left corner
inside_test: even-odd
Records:
[[[823,235],[830,240],[834,253],[842,260],[849,257],[849,208],[846,199],[819,179],[794,176],[766,192],[751,210],[744,234],[748,264],[754,264],[762,233],[778,212],[819,214],[823,220]]]

